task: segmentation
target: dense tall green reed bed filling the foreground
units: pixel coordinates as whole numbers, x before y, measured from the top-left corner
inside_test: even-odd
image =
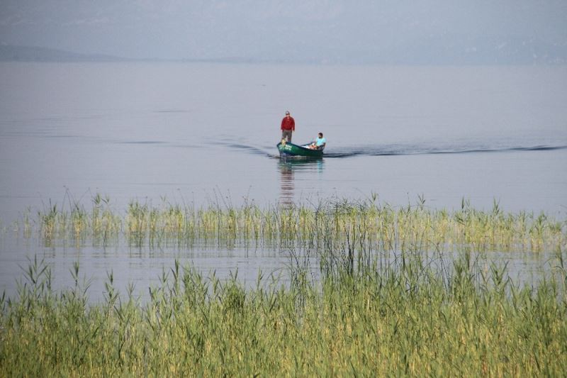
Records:
[[[178,261],[141,304],[89,304],[88,283],[54,292],[34,260],[16,299],[2,297],[0,376],[561,376],[567,371],[567,274],[513,284],[505,268],[461,254],[430,269],[405,255],[318,280],[297,264],[282,283],[245,289]],[[443,258],[443,257],[440,257]]]

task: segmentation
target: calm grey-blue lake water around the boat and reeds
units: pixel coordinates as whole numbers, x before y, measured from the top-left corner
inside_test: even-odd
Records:
[[[142,287],[172,259],[203,269],[281,269],[281,251],[101,251],[11,236],[13,221],[69,199],[116,209],[160,203],[309,203],[378,194],[415,203],[567,212],[567,67],[373,67],[193,63],[0,64],[0,291],[26,256],[56,277],[73,261],[94,280]],[[281,162],[293,141],[327,138],[318,162]],[[525,262],[517,257],[519,264]],[[525,262],[529,267],[543,265]],[[540,264],[541,263],[541,264]],[[531,268],[530,268],[531,269]],[[152,278],[149,278],[152,277]],[[95,285],[96,286],[96,285]]]

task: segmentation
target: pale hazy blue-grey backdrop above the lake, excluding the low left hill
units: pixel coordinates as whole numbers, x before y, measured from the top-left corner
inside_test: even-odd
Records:
[[[566,62],[564,0],[0,0],[0,43],[158,59]]]

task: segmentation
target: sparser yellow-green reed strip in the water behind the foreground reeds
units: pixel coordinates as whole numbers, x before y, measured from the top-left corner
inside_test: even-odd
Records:
[[[424,201],[404,207],[366,201],[327,199],[318,204],[239,207],[210,204],[152,206],[131,201],[116,211],[109,199],[97,195],[90,210],[74,204],[70,210],[48,206],[37,221],[26,218],[23,229],[35,228],[45,243],[73,240],[106,245],[125,238],[133,246],[178,245],[191,247],[212,240],[235,245],[283,245],[297,243],[308,248],[342,248],[350,239],[374,252],[422,250],[446,251],[471,248],[541,252],[564,250],[567,221],[545,213],[508,213],[494,204],[490,211],[473,209],[466,201],[461,209],[429,209]],[[34,227],[35,226],[35,227]]]

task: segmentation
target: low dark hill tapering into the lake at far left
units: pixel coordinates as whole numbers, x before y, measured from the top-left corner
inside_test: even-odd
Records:
[[[118,62],[121,60],[127,59],[32,46],[0,45],[1,62]]]

